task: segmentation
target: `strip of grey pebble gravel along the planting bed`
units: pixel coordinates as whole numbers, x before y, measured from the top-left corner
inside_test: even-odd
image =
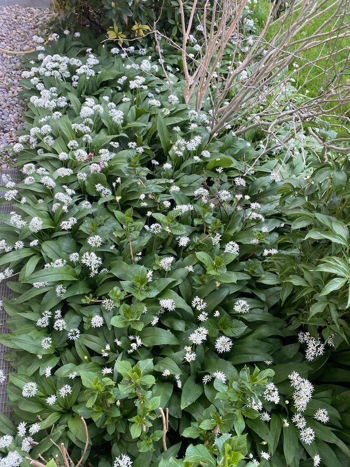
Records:
[[[51,16],[48,9],[0,6],[0,47],[11,51],[35,48],[32,36],[42,36],[40,25],[46,24]],[[18,99],[20,56],[0,52],[0,170],[16,162],[6,146],[17,141],[16,131],[24,111]]]

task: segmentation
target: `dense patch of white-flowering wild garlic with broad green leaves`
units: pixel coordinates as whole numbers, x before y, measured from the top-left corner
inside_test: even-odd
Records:
[[[0,428],[1,464],[63,443],[92,466],[337,466],[332,391],[306,379],[319,360],[298,351],[270,271],[280,160],[228,128],[211,138],[156,50],[56,39],[23,74],[23,180],[1,179],[18,424]]]

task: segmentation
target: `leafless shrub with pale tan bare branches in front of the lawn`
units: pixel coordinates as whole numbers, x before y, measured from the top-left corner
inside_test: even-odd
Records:
[[[350,50],[342,42],[350,36],[350,0],[334,0],[331,5],[328,0],[296,0],[281,15],[282,0],[274,0],[261,33],[251,36],[250,47],[242,53],[240,42],[246,37],[242,14],[248,4],[248,0],[207,0],[198,9],[199,3],[194,0],[186,22],[186,1],[179,0],[182,45],[168,39],[182,55],[185,102],[194,95],[199,111],[205,99],[211,100],[212,135],[232,122],[237,135],[257,127],[275,135],[274,128],[286,122],[293,122],[296,133],[302,122],[334,113],[349,101],[350,87],[344,71],[349,64]],[[320,15],[327,19],[312,36],[302,36],[300,33]],[[198,56],[193,59],[187,49],[195,21],[201,22],[204,39]],[[157,31],[157,35],[162,33]],[[228,45],[231,56],[227,69]],[[305,52],[316,47],[321,53],[313,60],[305,58]],[[341,62],[337,58],[340,52],[347,55]],[[301,65],[293,68],[296,61]],[[319,92],[310,98],[291,99],[287,85],[304,69],[319,71]],[[308,80],[315,79],[309,72],[306,75],[304,87]]]

